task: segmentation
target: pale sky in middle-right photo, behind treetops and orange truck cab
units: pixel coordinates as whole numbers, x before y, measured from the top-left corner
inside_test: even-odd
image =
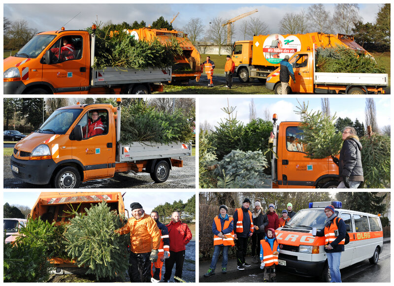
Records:
[[[218,122],[227,116],[221,108],[228,106],[236,106],[236,118],[247,124],[249,122],[249,105],[250,97],[222,97],[222,98],[199,98],[199,123],[205,120],[213,126],[218,126]],[[264,119],[264,112],[268,110],[270,119],[272,114],[278,115],[278,122],[282,121],[299,121],[299,115],[294,111],[298,110],[297,98],[258,98],[254,97],[257,117]],[[298,98],[299,102],[309,102],[309,110],[321,110],[321,98]],[[356,118],[365,125],[365,98],[329,98],[331,115],[336,113],[337,117],[349,117],[352,121]],[[375,98],[377,122],[379,128],[391,124],[391,100],[390,98]]]

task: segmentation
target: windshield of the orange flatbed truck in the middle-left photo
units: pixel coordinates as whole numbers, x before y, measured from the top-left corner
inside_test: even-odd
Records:
[[[58,109],[34,132],[65,134],[82,109]]]

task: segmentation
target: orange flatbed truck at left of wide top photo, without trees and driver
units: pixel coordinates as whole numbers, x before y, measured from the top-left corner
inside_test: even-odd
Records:
[[[95,32],[64,28],[36,34],[15,56],[4,59],[3,93],[150,94],[171,81],[171,67],[95,69],[95,37]],[[59,47],[67,38],[74,57],[62,59]]]

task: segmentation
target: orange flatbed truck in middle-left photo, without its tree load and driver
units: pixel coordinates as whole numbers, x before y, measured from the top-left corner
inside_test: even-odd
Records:
[[[99,114],[103,132],[90,136],[89,116],[94,111]],[[118,172],[147,172],[156,183],[163,183],[172,167],[183,167],[181,156],[191,156],[192,147],[187,143],[121,144],[120,130],[119,105],[59,108],[39,129],[14,146],[12,174],[30,184],[52,183],[54,188],[64,189],[78,188],[80,182],[111,178]]]

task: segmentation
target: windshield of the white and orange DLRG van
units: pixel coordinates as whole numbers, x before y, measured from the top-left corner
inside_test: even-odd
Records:
[[[335,214],[338,215],[338,212],[335,211]],[[319,230],[324,228],[326,218],[323,209],[300,210],[286,225],[289,225],[291,228],[302,229],[312,229],[316,227]]]

